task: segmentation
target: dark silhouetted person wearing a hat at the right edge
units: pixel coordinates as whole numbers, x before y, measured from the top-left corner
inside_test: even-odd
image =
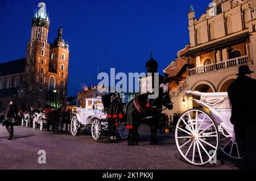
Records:
[[[231,123],[234,125],[236,141],[243,157],[245,169],[256,168],[256,80],[251,78],[249,66],[238,68],[238,77],[228,87],[232,107]]]

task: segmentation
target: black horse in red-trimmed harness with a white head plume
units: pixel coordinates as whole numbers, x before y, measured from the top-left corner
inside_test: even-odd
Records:
[[[115,128],[118,121],[126,120],[126,129],[129,130],[128,145],[137,145],[139,142],[138,127],[142,123],[150,126],[151,137],[150,144],[158,144],[156,137],[160,116],[162,113],[162,106],[172,110],[171,97],[168,93],[167,85],[160,85],[159,96],[156,99],[148,99],[147,94],[137,96],[129,103],[119,103],[112,101],[113,93],[102,97],[104,108],[108,112],[109,127],[112,128],[110,135],[115,136]],[[112,137],[110,137],[110,140]]]

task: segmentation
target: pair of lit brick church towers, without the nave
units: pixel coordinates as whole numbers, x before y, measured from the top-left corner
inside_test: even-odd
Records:
[[[26,107],[44,108],[48,102],[55,107],[64,107],[67,102],[67,78],[69,46],[59,28],[57,38],[48,44],[49,17],[46,3],[38,4],[32,18],[30,42],[27,44],[25,74],[27,82]]]

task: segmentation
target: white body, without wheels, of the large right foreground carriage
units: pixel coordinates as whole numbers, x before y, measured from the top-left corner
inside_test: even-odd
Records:
[[[185,92],[188,95],[200,96],[200,99],[193,100],[195,100],[195,102],[200,106],[207,107],[209,109],[214,120],[216,120],[219,125],[220,132],[224,133],[222,129],[225,129],[229,136],[234,138],[234,126],[230,122],[231,106],[228,98],[228,92]]]

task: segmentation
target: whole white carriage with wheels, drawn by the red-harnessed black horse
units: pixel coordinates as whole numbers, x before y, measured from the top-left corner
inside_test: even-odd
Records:
[[[85,99],[85,108],[74,107],[72,112],[71,133],[73,136],[76,136],[80,130],[91,128],[93,139],[98,140],[103,131],[108,130],[108,119],[101,97]],[[119,124],[117,131],[123,139],[127,138],[125,124]]]

